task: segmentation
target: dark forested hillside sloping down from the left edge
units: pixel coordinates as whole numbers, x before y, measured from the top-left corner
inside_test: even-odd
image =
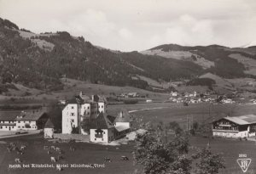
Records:
[[[90,83],[151,89],[154,81],[189,79],[201,74],[192,62],[112,51],[71,36],[66,31],[35,34],[0,19],[0,80],[26,87],[58,90],[61,77]],[[0,91],[1,92],[1,91]]]

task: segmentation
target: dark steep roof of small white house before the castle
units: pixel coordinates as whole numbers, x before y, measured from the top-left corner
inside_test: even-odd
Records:
[[[111,121],[109,121],[108,116],[103,114],[102,112],[91,123],[92,129],[109,129],[112,127],[113,127],[113,123]]]

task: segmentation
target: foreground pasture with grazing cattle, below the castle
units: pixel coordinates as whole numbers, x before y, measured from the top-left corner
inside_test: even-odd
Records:
[[[27,144],[25,154],[16,154],[15,151],[8,152],[6,149],[7,144],[0,143],[0,173],[55,173],[55,168],[19,168],[9,169],[9,165],[15,164],[15,158],[22,160],[21,164],[69,164],[68,168],[63,167],[61,173],[132,173],[135,169],[132,160],[132,148],[133,145],[119,146],[116,149],[114,146],[104,146],[92,143],[73,143],[76,151],[70,151],[69,143],[49,143],[44,140],[42,136],[25,136],[20,138],[7,138],[2,139],[1,142],[15,142],[20,146],[21,144]],[[51,150],[52,154],[47,154],[47,150],[44,150],[44,145],[55,145],[64,150],[63,160],[56,163],[50,161],[50,156],[57,156],[58,154]],[[108,148],[108,149],[107,149]],[[120,160],[122,155],[127,156],[130,160]],[[104,158],[108,157],[112,162],[104,162]],[[105,164],[104,168],[71,168],[71,164]],[[54,165],[55,166],[55,165]]]

